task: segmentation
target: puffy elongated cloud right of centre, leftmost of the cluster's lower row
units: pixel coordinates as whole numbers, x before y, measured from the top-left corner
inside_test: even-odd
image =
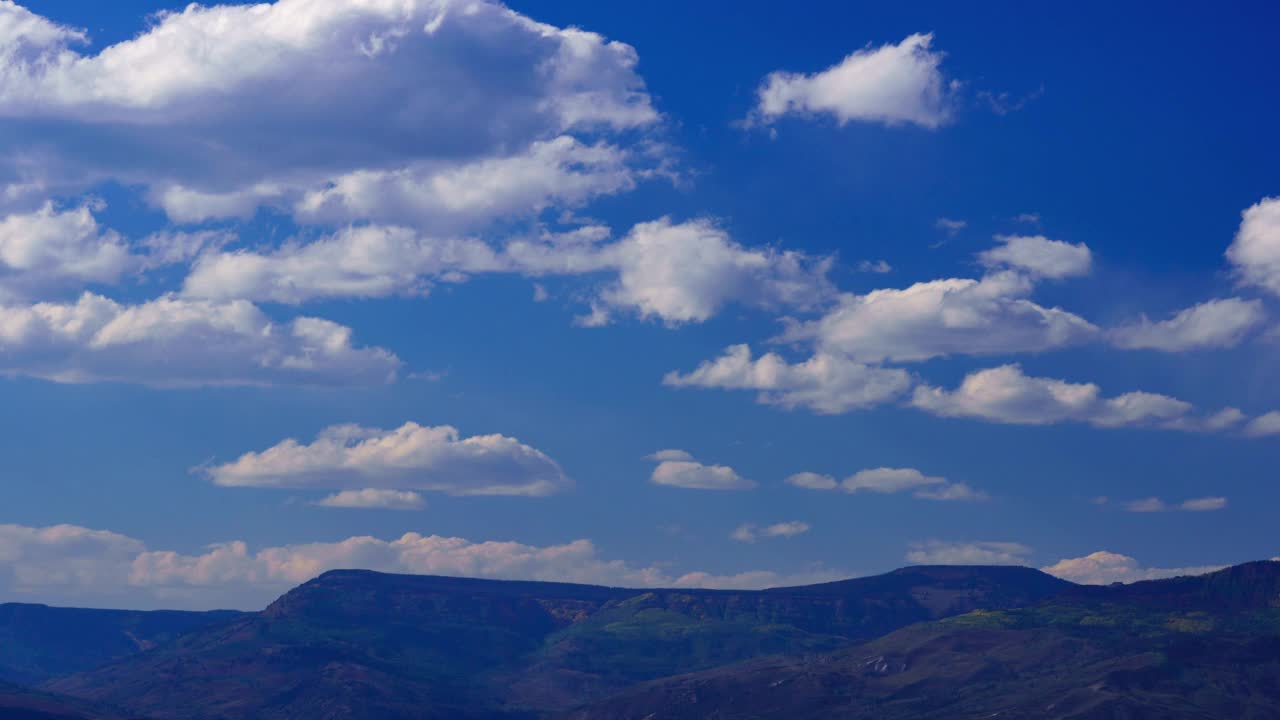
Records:
[[[782,407],[808,407],[840,414],[888,402],[911,387],[911,375],[897,368],[877,368],[838,355],[819,354],[804,363],[787,363],[768,352],[751,357],[751,348],[735,345],[690,373],[667,373],[671,387],[749,389],[758,401]]]

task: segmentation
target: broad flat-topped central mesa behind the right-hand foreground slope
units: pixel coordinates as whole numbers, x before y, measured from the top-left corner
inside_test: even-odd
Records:
[[[47,687],[159,719],[524,717],[1069,587],[1025,568],[914,568],[756,592],[335,571],[259,615]]]

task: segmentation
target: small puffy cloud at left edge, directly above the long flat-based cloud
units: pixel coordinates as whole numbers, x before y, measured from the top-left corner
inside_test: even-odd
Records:
[[[46,202],[0,220],[0,300],[113,283],[136,266],[124,238],[99,225],[93,209],[59,210]]]

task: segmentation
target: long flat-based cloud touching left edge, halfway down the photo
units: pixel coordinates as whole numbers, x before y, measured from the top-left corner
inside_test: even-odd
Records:
[[[0,305],[0,375],[159,387],[393,379],[399,360],[353,346],[351,334],[319,318],[275,323],[242,300],[122,305],[84,293],[72,304]]]

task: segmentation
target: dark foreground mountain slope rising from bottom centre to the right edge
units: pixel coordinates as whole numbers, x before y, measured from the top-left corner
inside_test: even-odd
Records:
[[[810,657],[634,687],[572,720],[1280,719],[1280,564],[1074,588]]]

